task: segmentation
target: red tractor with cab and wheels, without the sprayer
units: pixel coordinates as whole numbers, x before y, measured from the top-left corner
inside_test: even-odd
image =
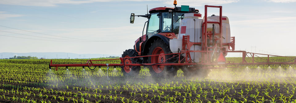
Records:
[[[185,14],[198,14],[201,17],[198,9],[191,8],[189,6],[176,7],[177,2],[174,1],[175,7],[157,7],[149,10],[150,14],[146,15],[134,15],[130,16],[130,23],[134,23],[134,17],[144,17],[148,21],[145,22],[146,32],[144,33],[145,25],[143,28],[143,34],[135,41],[134,49],[125,50],[122,54],[122,58],[136,57],[136,56],[149,56],[158,54],[170,54],[172,53],[170,46],[170,39],[178,39],[180,31],[180,22],[184,19]],[[191,28],[194,29],[194,28]],[[201,30],[201,29],[200,29]],[[180,48],[181,49],[181,48]],[[131,60],[125,60],[125,63],[150,63],[158,64],[167,61],[169,63],[178,63],[179,58],[173,57],[174,55],[158,55],[149,57],[136,57]],[[168,59],[168,60],[167,60]],[[177,70],[182,68],[184,74],[191,74],[189,70],[185,70],[184,66],[148,66],[150,74],[153,77],[161,76],[175,76]],[[140,66],[125,66],[122,68],[124,75],[130,75],[140,71]],[[206,70],[204,73],[207,75]],[[133,72],[133,73],[131,73]]]

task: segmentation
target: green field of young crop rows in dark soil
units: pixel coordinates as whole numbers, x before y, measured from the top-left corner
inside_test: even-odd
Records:
[[[259,58],[255,58],[260,62]],[[290,61],[271,57],[271,61]],[[241,58],[227,58],[241,62]],[[58,59],[53,64],[81,64]],[[0,60],[2,103],[290,103],[296,102],[296,65],[241,65],[212,69],[206,78],[153,78],[142,67],[124,77],[120,67],[48,68],[50,60]],[[97,62],[99,63],[99,62]],[[120,63],[120,60],[103,61]],[[108,73],[108,78],[107,78]],[[295,96],[294,96],[295,95]]]

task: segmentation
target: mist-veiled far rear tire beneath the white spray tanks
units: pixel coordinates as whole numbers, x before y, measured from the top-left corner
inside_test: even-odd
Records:
[[[181,70],[183,71],[183,75],[187,78],[187,79],[191,79],[191,78],[206,78],[209,76],[209,73],[212,72],[211,69],[191,69],[191,68],[187,68],[185,66],[183,66],[181,68]]]

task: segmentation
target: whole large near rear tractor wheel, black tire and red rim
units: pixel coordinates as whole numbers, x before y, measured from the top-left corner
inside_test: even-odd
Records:
[[[170,47],[161,39],[154,40],[148,50],[148,55],[172,53]],[[171,58],[172,56],[173,55],[149,56],[146,62],[152,64],[175,62],[176,59]],[[155,78],[174,77],[178,71],[176,67],[177,66],[148,66],[151,76]]]

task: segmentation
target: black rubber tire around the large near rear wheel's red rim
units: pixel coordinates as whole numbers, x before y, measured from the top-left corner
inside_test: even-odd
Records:
[[[164,43],[163,40],[156,39],[156,40],[154,40],[153,43],[151,43],[151,46],[148,49],[149,50],[148,55],[152,55],[154,49],[157,48],[157,47],[162,48],[162,50],[164,51],[165,54],[172,53],[170,47],[166,43]],[[165,57],[167,59],[171,58],[172,56],[173,55],[165,55]],[[152,63],[151,58],[152,57],[149,56],[146,63]],[[171,63],[171,62],[175,62],[175,61],[176,61],[176,59],[171,58],[171,59],[167,60],[166,62]],[[150,72],[151,76],[156,78],[156,79],[157,78],[171,78],[171,77],[174,77],[177,74],[177,71],[178,71],[177,66],[164,66],[164,69],[162,70],[162,72],[159,72],[159,73],[154,71],[153,66],[148,66],[148,68],[149,68],[149,72]]]

